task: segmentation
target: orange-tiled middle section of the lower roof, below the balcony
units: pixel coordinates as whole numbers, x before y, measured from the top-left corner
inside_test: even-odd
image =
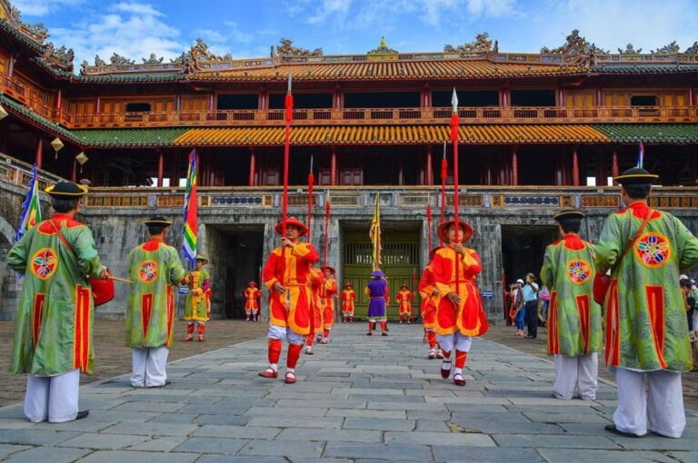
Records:
[[[294,127],[291,143],[326,144],[420,144],[449,139],[444,125],[382,125]],[[462,143],[606,143],[608,136],[589,125],[462,125]],[[237,127],[191,129],[175,140],[181,146],[282,145],[283,127]]]

